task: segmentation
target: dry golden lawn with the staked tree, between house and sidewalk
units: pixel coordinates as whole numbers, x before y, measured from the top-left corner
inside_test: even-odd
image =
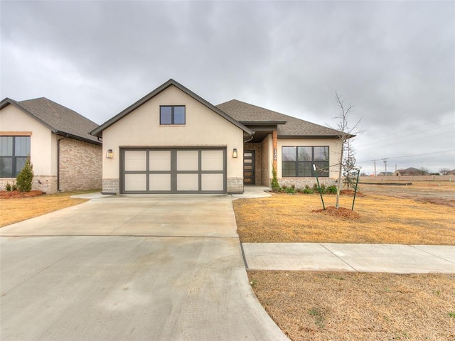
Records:
[[[335,195],[324,195],[326,207],[335,200]],[[340,200],[341,207],[350,209],[353,196]],[[241,242],[455,244],[455,208],[428,201],[358,196],[358,217],[347,218],[312,212],[322,209],[319,195],[277,193],[233,205]]]

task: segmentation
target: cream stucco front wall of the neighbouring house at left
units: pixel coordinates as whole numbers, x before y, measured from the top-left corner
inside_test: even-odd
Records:
[[[8,105],[0,111],[0,131],[2,134],[11,133],[11,135],[30,131],[30,156],[33,172],[35,175],[57,175],[57,167],[53,167],[53,163],[51,163],[51,160],[55,158],[56,147],[53,134],[48,127],[13,105]]]

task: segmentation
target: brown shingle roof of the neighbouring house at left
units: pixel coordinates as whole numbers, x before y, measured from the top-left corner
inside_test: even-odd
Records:
[[[95,136],[90,135],[90,131],[98,126],[95,122],[50,99],[41,97],[17,102],[5,98],[0,102],[0,109],[10,104],[48,127],[54,134],[101,145]]]

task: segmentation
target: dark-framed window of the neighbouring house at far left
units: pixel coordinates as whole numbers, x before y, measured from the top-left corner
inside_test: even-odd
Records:
[[[16,178],[30,155],[30,136],[0,136],[0,178]]]

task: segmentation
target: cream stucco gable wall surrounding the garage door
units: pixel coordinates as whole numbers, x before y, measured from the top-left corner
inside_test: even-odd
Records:
[[[186,124],[160,125],[160,105],[185,105]],[[242,178],[243,131],[200,102],[171,85],[149,102],[129,113],[102,133],[103,156],[107,149],[114,158],[103,158],[103,178],[119,178],[119,148],[127,146],[225,146],[228,178]],[[238,158],[232,158],[237,148]]]

